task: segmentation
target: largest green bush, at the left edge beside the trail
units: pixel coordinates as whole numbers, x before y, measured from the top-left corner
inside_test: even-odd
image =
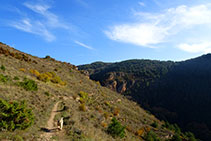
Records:
[[[24,130],[34,122],[31,109],[26,107],[26,102],[7,102],[0,99],[0,130],[14,131]]]

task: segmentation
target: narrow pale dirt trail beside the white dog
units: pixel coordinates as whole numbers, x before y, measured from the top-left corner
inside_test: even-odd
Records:
[[[61,101],[58,101],[52,111],[51,111],[51,115],[50,115],[50,118],[47,122],[47,127],[44,128],[44,131],[45,133],[43,133],[41,135],[41,140],[42,141],[50,141],[52,140],[51,137],[56,133],[56,130],[57,130],[57,127],[54,127],[54,117],[56,116],[56,114],[58,113],[57,112],[57,108],[58,108],[58,104],[60,103]]]

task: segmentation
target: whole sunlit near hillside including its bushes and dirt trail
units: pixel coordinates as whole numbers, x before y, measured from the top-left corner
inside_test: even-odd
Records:
[[[170,140],[179,132],[69,63],[0,43],[0,66],[0,140]],[[114,117],[123,138],[109,128]]]

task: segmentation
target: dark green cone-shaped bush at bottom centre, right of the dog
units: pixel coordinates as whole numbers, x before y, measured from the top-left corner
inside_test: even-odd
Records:
[[[108,126],[107,132],[108,134],[111,134],[113,137],[123,138],[125,136],[125,127],[122,126],[121,123],[118,122],[116,118],[113,118]]]

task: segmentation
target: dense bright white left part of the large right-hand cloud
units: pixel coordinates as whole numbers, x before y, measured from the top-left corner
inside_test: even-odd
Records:
[[[153,24],[119,25],[106,31],[106,35],[116,41],[132,43],[140,46],[149,46],[164,42],[166,28]]]

